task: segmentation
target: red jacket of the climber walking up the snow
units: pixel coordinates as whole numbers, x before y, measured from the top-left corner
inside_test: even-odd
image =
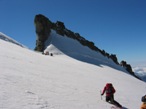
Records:
[[[107,90],[108,89],[111,89],[111,92],[108,92]],[[102,95],[106,92],[106,96],[110,96],[110,95],[113,95],[116,90],[114,89],[114,87],[112,86],[111,83],[107,83],[106,86],[104,87],[103,91],[102,91]]]

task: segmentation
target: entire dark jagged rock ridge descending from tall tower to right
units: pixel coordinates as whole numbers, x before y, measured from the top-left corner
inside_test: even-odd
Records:
[[[51,22],[47,17],[42,14],[38,14],[34,19],[35,28],[36,28],[36,51],[43,52],[45,50],[45,41],[49,38],[51,29],[55,30],[57,34],[60,34],[62,37],[67,36],[79,41],[83,46],[88,46],[90,49],[100,52],[102,55],[111,58],[116,64],[124,67],[131,75],[138,78],[132,71],[131,65],[127,64],[126,61],[118,62],[118,59],[115,54],[109,54],[104,50],[99,49],[94,45],[92,41],[86,40],[79,33],[74,33],[71,30],[67,29],[63,22],[57,21],[56,23]],[[139,78],[138,78],[139,79]]]

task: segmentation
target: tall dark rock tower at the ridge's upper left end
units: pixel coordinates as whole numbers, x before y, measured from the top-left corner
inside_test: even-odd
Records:
[[[34,19],[35,27],[36,27],[36,51],[44,50],[44,43],[50,35],[51,32],[51,21],[45,16],[39,14],[35,16]]]

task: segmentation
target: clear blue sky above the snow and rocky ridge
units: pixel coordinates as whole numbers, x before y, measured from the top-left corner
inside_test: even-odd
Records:
[[[146,0],[0,0],[0,31],[34,49],[34,17],[43,14],[118,61],[146,64]]]

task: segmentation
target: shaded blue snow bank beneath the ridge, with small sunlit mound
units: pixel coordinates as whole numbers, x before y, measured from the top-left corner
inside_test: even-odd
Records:
[[[87,46],[81,45],[77,40],[69,38],[67,36],[61,36],[56,34],[54,30],[51,31],[50,37],[46,41],[46,49],[44,52],[50,52],[56,54],[59,50],[59,54],[66,54],[74,59],[94,64],[97,66],[106,65],[118,70],[125,71],[121,66],[116,65],[113,60],[103,56],[101,53],[91,50]],[[126,72],[126,71],[125,71]]]

